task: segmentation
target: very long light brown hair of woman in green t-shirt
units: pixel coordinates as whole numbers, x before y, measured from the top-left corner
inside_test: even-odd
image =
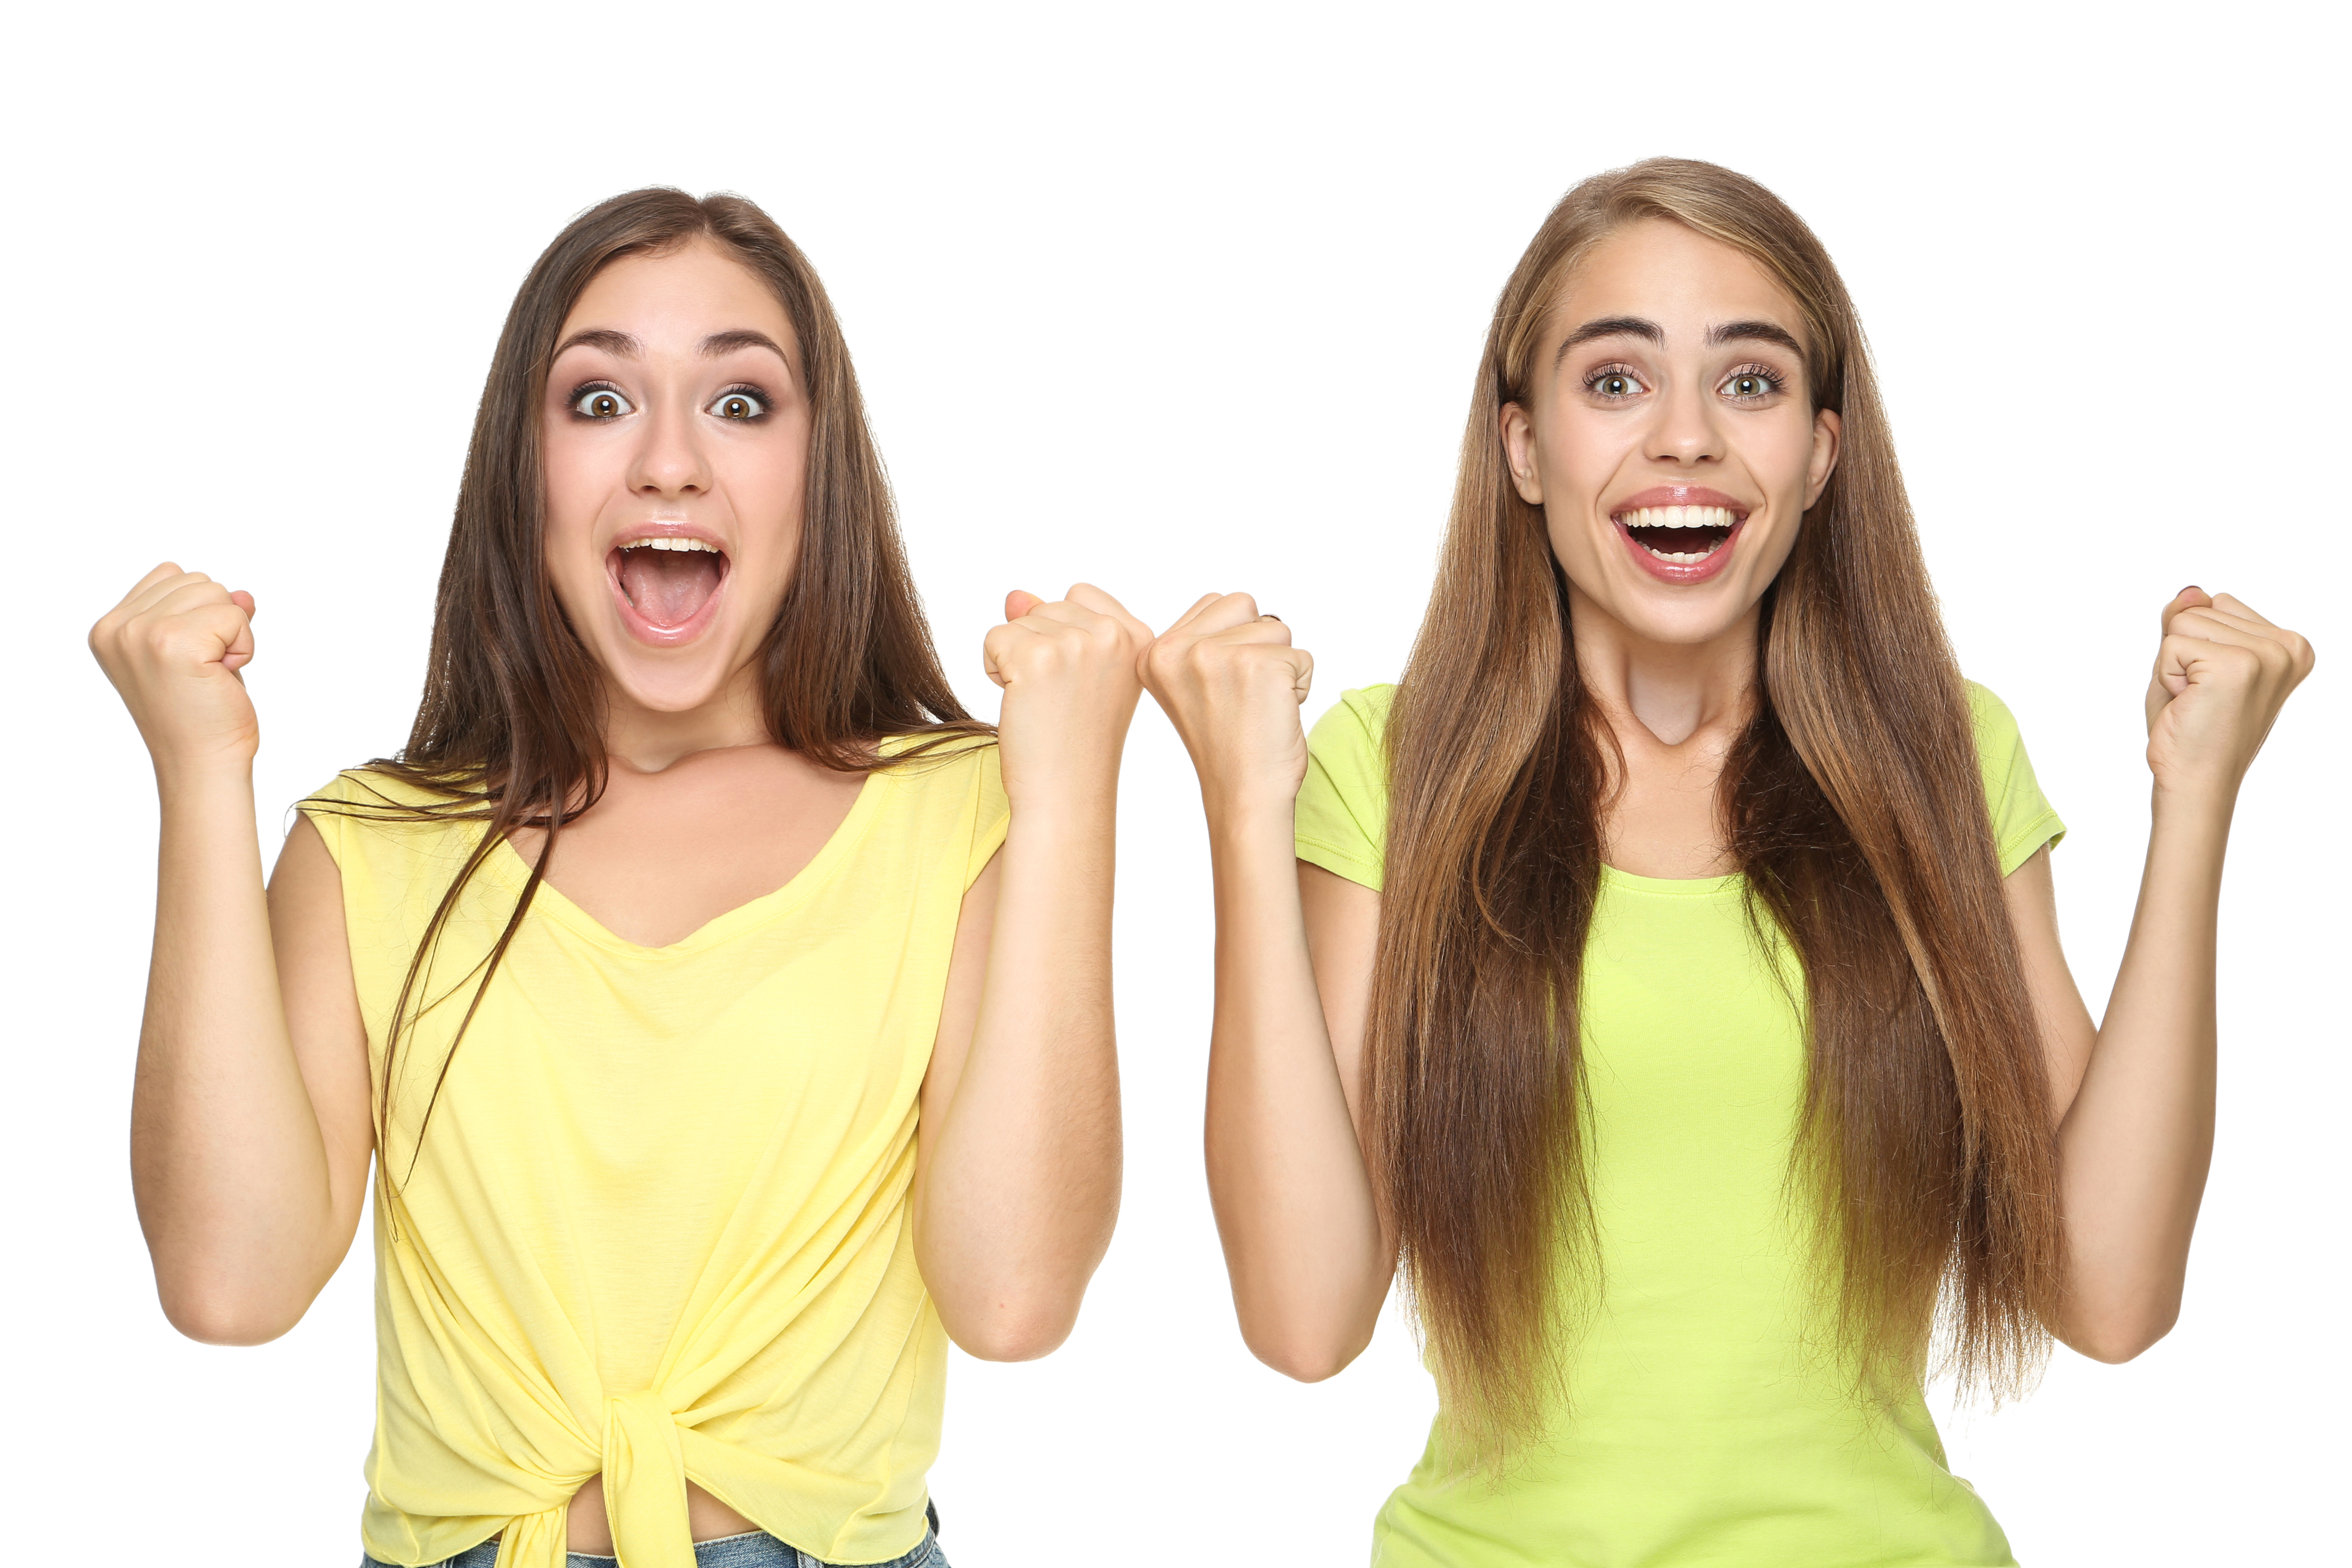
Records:
[[[1564,1392],[1583,1182],[1578,973],[1623,773],[1583,686],[1543,510],[1510,484],[1576,266],[1670,219],[1755,259],[1806,322],[1842,456],[1764,599],[1752,717],[1717,809],[1757,938],[1804,969],[1792,1175],[1818,1204],[1860,1387],[1933,1331],[2004,1392],[2046,1345],[2063,1244],[2042,1044],[2002,903],[1966,693],[1926,581],[1853,303],[1820,240],[1729,169],[1653,158],[1583,181],[1494,310],[1454,515],[1390,719],[1392,816],[1367,1072],[1371,1159],[1463,1453],[1508,1455]],[[1571,1389],[1566,1389],[1573,1394]]]

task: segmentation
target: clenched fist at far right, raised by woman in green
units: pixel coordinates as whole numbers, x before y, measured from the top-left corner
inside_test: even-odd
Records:
[[[2164,607],[2147,682],[2147,766],[2169,795],[2237,792],[2286,696],[2312,672],[2312,644],[2241,599],[2183,588]]]

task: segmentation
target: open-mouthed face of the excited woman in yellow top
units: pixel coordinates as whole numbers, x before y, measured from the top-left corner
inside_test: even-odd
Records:
[[[614,261],[564,317],[548,576],[614,703],[689,712],[757,679],[800,557],[804,388],[776,294],[710,240]]]

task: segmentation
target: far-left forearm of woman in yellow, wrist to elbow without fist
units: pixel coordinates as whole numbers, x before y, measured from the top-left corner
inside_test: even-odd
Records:
[[[332,1269],[327,1154],[278,992],[252,778],[162,776],[160,795],[132,1190],[172,1321],[261,1340]]]

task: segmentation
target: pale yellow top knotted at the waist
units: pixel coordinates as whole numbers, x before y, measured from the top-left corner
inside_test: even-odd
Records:
[[[386,797],[421,799],[350,771],[306,802],[379,1084],[416,940],[482,832],[334,809]],[[397,1197],[376,1215],[372,1556],[503,1530],[499,1568],[562,1568],[600,1472],[628,1568],[691,1568],[687,1479],[826,1561],[922,1540],[946,1333],[908,1222],[915,1112],[964,889],[1004,827],[995,745],[967,743],[870,773],[790,884],[668,947],[541,884],[452,1053],[527,879],[492,851],[419,990],[447,1001],[400,1044],[379,1152]]]

